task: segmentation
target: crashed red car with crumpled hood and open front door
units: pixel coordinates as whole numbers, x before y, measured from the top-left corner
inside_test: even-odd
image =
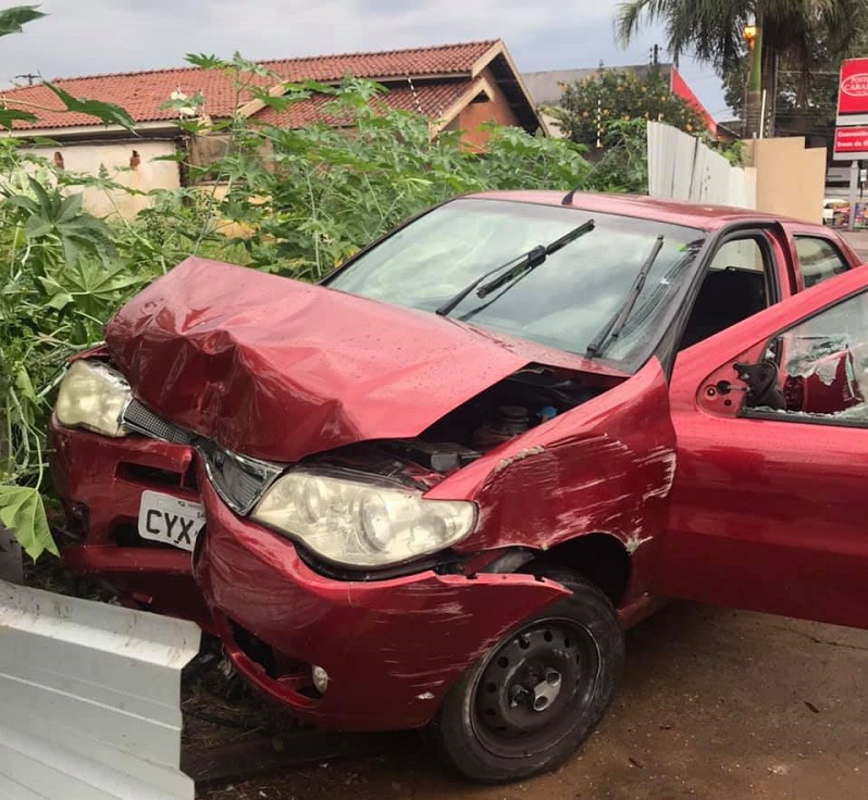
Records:
[[[856,265],[559,192],[447,202],[318,286],[189,259],[62,384],[64,559],[308,722],[550,768],[665,598],[868,626]]]

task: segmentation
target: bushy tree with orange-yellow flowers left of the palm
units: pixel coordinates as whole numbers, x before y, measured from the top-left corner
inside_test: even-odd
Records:
[[[600,70],[566,86],[560,105],[548,113],[569,138],[590,148],[605,146],[617,122],[654,120],[687,133],[705,130],[698,111],[672,93],[659,68],[642,75],[632,70]]]

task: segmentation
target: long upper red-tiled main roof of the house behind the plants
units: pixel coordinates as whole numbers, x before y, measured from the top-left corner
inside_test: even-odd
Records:
[[[346,73],[356,77],[368,78],[414,78],[435,75],[469,75],[475,62],[497,43],[476,41],[463,45],[444,45],[439,47],[414,48],[409,50],[392,50],[374,53],[345,53],[339,55],[322,55],[303,59],[284,59],[281,61],[262,61],[262,66],[277,74],[285,82],[319,80],[334,83]],[[201,93],[204,97],[204,111],[211,116],[227,116],[233,111],[235,91],[231,82],[220,72],[186,67],[181,70],[154,70],[149,72],[120,73],[114,75],[94,75],[79,78],[58,78],[53,83],[77,98],[101,100],[123,107],[138,123],[158,122],[176,118],[173,109],[160,108],[170,95],[179,89],[193,97]],[[274,84],[271,78],[257,77],[255,85],[269,88]],[[443,95],[445,97],[445,95]],[[445,102],[443,97],[431,96],[425,102],[430,108],[438,108]],[[101,125],[99,120],[84,114],[64,113],[58,98],[44,86],[25,86],[11,89],[2,95],[9,108],[34,110],[32,107],[48,108],[51,111],[34,110],[37,123],[16,124],[16,128],[37,129],[54,127],[73,127],[77,125]],[[241,98],[244,102],[245,99]],[[314,101],[309,101],[311,108]],[[388,101],[389,104],[392,101]],[[397,102],[409,102],[398,100]],[[446,105],[449,103],[446,102]],[[396,105],[395,108],[413,108]],[[306,113],[296,108],[296,114],[303,118]],[[264,112],[263,112],[264,113]],[[426,112],[427,113],[427,112]],[[296,123],[296,124],[303,124]]]

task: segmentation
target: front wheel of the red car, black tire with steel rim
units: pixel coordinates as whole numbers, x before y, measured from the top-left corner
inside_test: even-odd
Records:
[[[581,745],[611,702],[624,661],[609,599],[569,572],[572,596],[523,622],[452,687],[432,722],[441,758],[498,784],[547,772]]]

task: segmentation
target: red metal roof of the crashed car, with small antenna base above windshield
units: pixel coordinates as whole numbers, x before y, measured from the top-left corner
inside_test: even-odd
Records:
[[[484,200],[509,200],[521,203],[543,205],[561,205],[567,192],[563,191],[485,191],[467,197]],[[584,211],[597,211],[602,214],[621,214],[655,220],[670,225],[684,225],[703,230],[719,230],[735,223],[745,222],[783,222],[793,223],[805,228],[821,228],[820,225],[806,223],[774,214],[767,214],[751,209],[739,209],[728,205],[707,205],[687,203],[680,200],[658,200],[642,195],[605,195],[599,192],[575,192],[571,208]]]

